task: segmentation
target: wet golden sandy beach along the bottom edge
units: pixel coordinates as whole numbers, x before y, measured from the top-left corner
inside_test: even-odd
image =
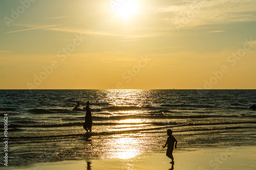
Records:
[[[84,159],[4,169],[255,169],[256,147],[177,149],[174,152],[174,158],[175,164],[172,165],[165,156],[165,150],[163,149],[160,153],[147,153],[130,159]]]

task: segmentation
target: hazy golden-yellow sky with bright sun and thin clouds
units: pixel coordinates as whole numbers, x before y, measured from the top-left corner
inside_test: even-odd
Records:
[[[0,1],[0,89],[255,89],[256,1]]]

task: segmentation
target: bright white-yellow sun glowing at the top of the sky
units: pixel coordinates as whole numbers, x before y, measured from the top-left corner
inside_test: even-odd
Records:
[[[112,9],[115,11],[117,16],[127,20],[139,12],[139,3],[136,0],[119,0],[115,4],[112,4]]]

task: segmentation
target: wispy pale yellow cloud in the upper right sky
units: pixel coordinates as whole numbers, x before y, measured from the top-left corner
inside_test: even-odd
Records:
[[[191,1],[181,5],[172,4],[168,7],[156,9],[157,12],[169,14],[169,20],[181,23],[185,27],[215,25],[221,23],[256,21],[256,1],[216,0]],[[164,20],[163,20],[164,21]]]

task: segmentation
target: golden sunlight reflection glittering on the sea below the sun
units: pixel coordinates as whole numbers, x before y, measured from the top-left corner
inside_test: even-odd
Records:
[[[141,113],[139,109],[138,101],[144,100],[142,98],[143,90],[108,90],[107,98],[111,101],[113,108],[118,107],[118,111],[113,110],[114,115],[127,115],[134,116]],[[123,109],[123,110],[122,110]],[[130,110],[131,109],[131,110]],[[147,126],[138,118],[126,118],[117,120],[114,128],[108,129],[108,131],[120,132],[123,134],[116,134],[106,144],[108,148],[109,158],[130,159],[140,155],[142,151],[141,144],[143,140],[135,133],[125,133],[126,131],[135,130]]]

